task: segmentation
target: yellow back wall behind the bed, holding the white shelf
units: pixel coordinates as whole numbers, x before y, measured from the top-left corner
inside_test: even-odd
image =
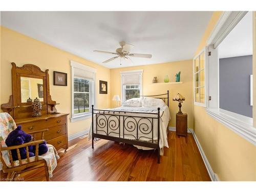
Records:
[[[121,71],[131,71],[143,69],[143,95],[154,95],[166,93],[169,90],[169,106],[172,120],[170,126],[175,125],[175,114],[179,111],[178,102],[172,101],[177,93],[185,97],[182,103],[182,112],[188,114],[188,127],[193,127],[193,61],[177,61],[167,62],[157,65],[136,66],[128,68],[111,69],[111,98],[114,95],[121,97]],[[152,84],[153,77],[157,77],[158,82],[164,82],[164,76],[168,75],[169,81],[175,81],[175,74],[181,71],[182,84]],[[111,106],[116,106],[116,102],[112,101]]]

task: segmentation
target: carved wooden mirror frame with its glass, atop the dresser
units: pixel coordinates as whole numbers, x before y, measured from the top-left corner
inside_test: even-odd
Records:
[[[22,67],[11,64],[12,95],[8,103],[1,105],[2,110],[14,119],[32,117],[32,101],[37,98],[42,105],[41,115],[56,114],[58,103],[51,99],[48,70],[42,71],[32,64]]]

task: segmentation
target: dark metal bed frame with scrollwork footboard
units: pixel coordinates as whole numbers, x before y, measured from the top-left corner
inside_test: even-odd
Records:
[[[169,91],[160,95],[141,95],[140,97],[154,97],[162,99],[164,102],[167,100],[169,106]],[[128,114],[127,114],[128,113]],[[148,117],[132,116],[132,114],[150,114]],[[96,115],[96,133],[94,133],[94,115]],[[120,124],[120,120],[122,123]],[[143,123],[148,121],[151,126]],[[153,124],[157,120],[157,127]],[[106,128],[106,132],[100,129]],[[120,135],[120,131],[123,131]],[[157,129],[157,142],[154,142],[154,129]],[[136,134],[132,134],[136,130]],[[105,135],[101,135],[99,132],[104,132]],[[142,134],[143,136],[138,136]],[[115,134],[116,137],[110,136]],[[119,137],[118,137],[119,136]],[[125,139],[124,136],[132,136],[134,139]],[[141,138],[151,139],[150,141],[141,140]],[[150,147],[157,150],[157,163],[160,163],[160,108],[157,109],[157,113],[145,113],[145,112],[131,112],[131,111],[114,111],[114,110],[97,110],[92,105],[92,148],[94,148],[94,138],[106,139],[110,141],[122,142],[132,145],[139,145],[144,147]]]

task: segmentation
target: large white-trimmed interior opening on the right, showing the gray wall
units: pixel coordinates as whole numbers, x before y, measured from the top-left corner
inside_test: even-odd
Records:
[[[250,15],[246,16],[246,14]],[[246,50],[252,50],[252,39],[249,39],[252,36],[252,22],[251,20],[248,22],[251,18],[251,13],[247,13],[246,11],[223,12],[215,26],[215,29],[218,30],[214,30],[207,41],[207,51],[211,54],[206,59],[208,61],[209,73],[205,80],[208,82],[206,83],[206,88],[208,87],[208,94],[211,100],[207,103],[208,107],[205,111],[212,118],[229,127],[234,133],[237,133],[255,145],[256,132],[255,127],[253,127],[254,119],[245,114],[241,115],[240,113],[245,105],[252,107],[249,101],[249,78],[251,68],[249,72],[244,75],[243,73],[246,68],[245,61],[238,61],[238,65],[236,65],[236,61],[234,61],[234,59],[238,59],[239,57],[241,59],[241,56],[246,55],[248,57],[248,55],[251,55],[251,52],[244,53]],[[247,24],[244,23],[246,20],[248,22]],[[242,26],[239,26],[241,24]],[[238,30],[239,28],[240,30]],[[239,33],[236,34],[236,32]],[[246,38],[247,40],[245,40]],[[225,48],[226,46],[230,47]],[[237,52],[236,55],[234,54],[235,52]],[[228,63],[225,63],[227,61]],[[241,65],[242,68],[239,69]],[[225,67],[227,69],[225,69]],[[239,71],[239,73],[237,73],[237,71]],[[229,79],[230,77],[231,79]],[[244,79],[246,79],[246,84],[241,85]],[[233,84],[233,82],[236,83]],[[244,91],[245,89],[247,89],[247,91]],[[241,96],[239,96],[239,94],[241,94]],[[225,98],[225,96],[228,97]],[[232,102],[229,104],[229,108],[223,105],[229,102]],[[243,102],[246,102],[246,104]],[[240,105],[241,103],[243,104]],[[237,106],[239,106],[239,108],[237,108]],[[236,109],[231,107],[236,107]],[[223,108],[225,109],[223,110]],[[246,112],[248,111],[249,110]]]

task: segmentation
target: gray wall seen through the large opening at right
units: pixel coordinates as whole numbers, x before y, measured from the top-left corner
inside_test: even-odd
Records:
[[[252,55],[220,59],[220,108],[252,117]]]

